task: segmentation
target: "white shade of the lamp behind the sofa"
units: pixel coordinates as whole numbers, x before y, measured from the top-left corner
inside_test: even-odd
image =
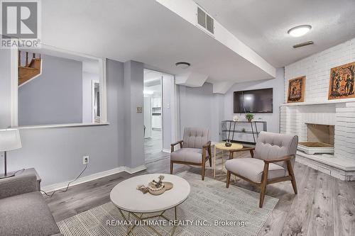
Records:
[[[21,148],[20,132],[15,129],[0,130],[0,152]]]

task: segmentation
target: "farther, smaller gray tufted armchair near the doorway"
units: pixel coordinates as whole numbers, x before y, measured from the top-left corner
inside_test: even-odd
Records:
[[[175,150],[175,145],[180,145]],[[201,128],[185,128],[183,140],[171,144],[170,174],[174,164],[189,164],[202,167],[201,176],[204,180],[205,163],[209,160],[212,167],[211,141],[209,130]]]

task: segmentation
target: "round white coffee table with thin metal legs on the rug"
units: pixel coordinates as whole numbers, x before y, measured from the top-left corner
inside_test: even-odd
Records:
[[[136,188],[140,184],[148,186],[148,183],[153,179],[158,180],[158,176],[163,175],[163,181],[172,182],[174,184],[173,189],[165,191],[165,193],[153,196],[151,193],[143,194]],[[187,196],[190,194],[190,184],[179,176],[172,174],[144,174],[141,176],[135,176],[121,183],[117,184],[110,193],[112,203],[119,208],[119,212],[122,218],[126,221],[130,221],[130,215],[133,215],[137,220],[146,220],[150,218],[166,218],[166,210],[175,209],[175,220],[177,220],[176,207],[183,203]],[[124,215],[124,211],[128,214],[128,217]],[[146,213],[157,213],[156,215],[149,215],[143,217]],[[133,228],[136,225],[127,225],[127,235],[133,235]],[[155,230],[151,225],[150,227],[157,235],[161,235],[160,232]],[[171,235],[174,235],[176,226],[174,225]]]

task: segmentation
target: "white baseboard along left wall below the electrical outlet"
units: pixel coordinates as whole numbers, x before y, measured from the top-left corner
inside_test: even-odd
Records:
[[[77,184],[83,184],[83,183],[86,183],[86,182],[89,182],[89,181],[93,181],[95,179],[100,179],[100,178],[103,178],[103,177],[106,177],[106,176],[109,176],[109,175],[112,175],[112,174],[118,174],[118,173],[121,173],[121,172],[127,172],[129,174],[134,174],[136,172],[141,172],[144,169],[147,169],[147,167],[145,165],[141,165],[139,167],[134,167],[134,168],[131,168],[131,167],[117,167],[117,168],[114,168],[114,169],[109,169],[109,170],[104,171],[104,172],[98,172],[98,173],[95,173],[95,174],[90,174],[88,176],[81,177],[81,178],[77,179],[76,181],[72,182],[72,184],[70,184],[70,186],[75,186]],[[50,184],[48,186],[41,187],[40,189],[45,191],[46,193],[49,193],[49,192],[52,192],[52,191],[56,191],[58,189],[66,188],[67,184],[69,182],[70,181],[62,182],[62,183],[59,183],[59,184]]]

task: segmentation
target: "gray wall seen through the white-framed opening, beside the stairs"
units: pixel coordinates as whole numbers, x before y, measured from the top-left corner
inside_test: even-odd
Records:
[[[42,74],[18,88],[18,125],[82,123],[82,62],[42,55]]]

